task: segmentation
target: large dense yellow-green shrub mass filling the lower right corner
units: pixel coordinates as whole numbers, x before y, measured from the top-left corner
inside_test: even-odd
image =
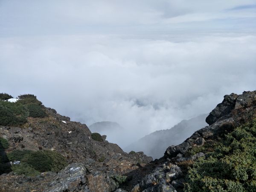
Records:
[[[256,120],[235,128],[213,152],[195,161],[187,192],[235,192],[256,189]]]

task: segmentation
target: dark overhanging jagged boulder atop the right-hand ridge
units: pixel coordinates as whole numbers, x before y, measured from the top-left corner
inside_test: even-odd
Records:
[[[209,125],[212,125],[222,116],[229,114],[231,110],[235,108],[237,97],[238,95],[235,93],[225,95],[224,100],[218,104],[216,108],[212,110],[212,112],[210,112],[209,116],[207,116],[206,122]]]

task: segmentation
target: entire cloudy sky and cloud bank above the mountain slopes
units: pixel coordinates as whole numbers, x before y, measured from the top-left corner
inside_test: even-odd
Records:
[[[256,90],[256,0],[0,0],[0,92],[121,147]]]

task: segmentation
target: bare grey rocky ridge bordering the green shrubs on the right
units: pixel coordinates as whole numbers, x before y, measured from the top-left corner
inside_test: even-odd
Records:
[[[206,121],[209,126],[199,129],[180,145],[172,145],[166,149],[164,157],[155,160],[156,169],[145,175],[131,192],[166,192],[183,191],[186,169],[183,165],[193,163],[205,154],[199,152],[191,155],[190,150],[223,139],[223,135],[231,132],[241,119],[250,120],[256,114],[256,91],[247,91],[241,95],[234,93],[224,96],[222,103],[209,114]],[[255,116],[254,116],[255,117]],[[246,121],[245,121],[246,122]],[[163,162],[164,161],[164,162]],[[185,173],[184,173],[185,172]]]

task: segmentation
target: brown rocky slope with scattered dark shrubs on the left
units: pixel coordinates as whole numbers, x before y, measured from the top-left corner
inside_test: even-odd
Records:
[[[123,174],[152,160],[125,153],[34,95],[19,99],[0,100],[0,191],[113,191]]]

